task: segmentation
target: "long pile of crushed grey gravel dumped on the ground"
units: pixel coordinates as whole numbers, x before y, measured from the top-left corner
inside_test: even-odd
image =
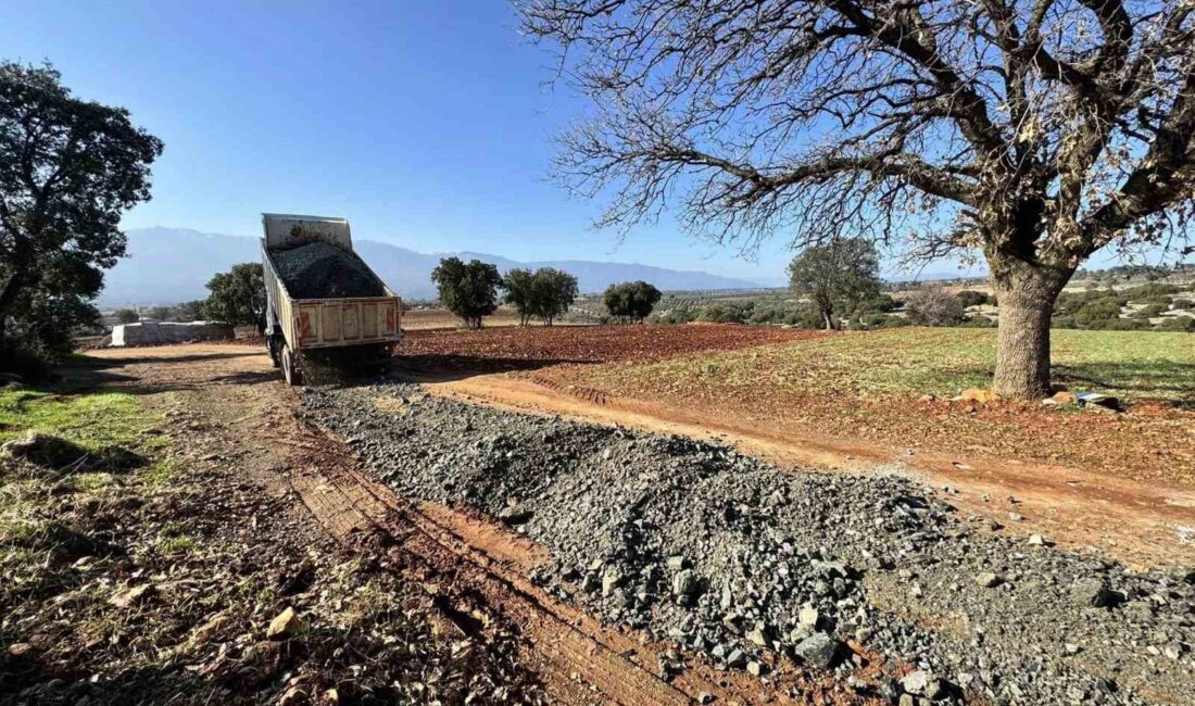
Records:
[[[379,397],[405,413],[378,412]],[[987,536],[900,478],[793,473],[687,437],[500,412],[404,383],[305,399],[407,497],[473,505],[549,547],[535,578],[550,590],[728,669],[766,674],[784,653],[912,704],[1195,693],[1190,571],[1135,573]],[[913,671],[857,677],[846,640],[890,658],[890,674]]]

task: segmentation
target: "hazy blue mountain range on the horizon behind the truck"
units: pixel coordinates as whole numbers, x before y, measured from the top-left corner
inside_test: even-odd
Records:
[[[261,259],[257,238],[219,235],[189,228],[140,228],[128,231],[129,257],[106,277],[99,297],[103,306],[167,305],[203,299],[212,275],[232,265]],[[431,270],[447,254],[479,259],[505,272],[511,268],[551,266],[577,277],[582,293],[606,289],[614,282],[644,280],[662,290],[756,289],[765,284],[709,272],[669,270],[630,263],[589,260],[517,262],[496,254],[459,252],[423,253],[376,240],[354,240],[354,248],[378,276],[400,296],[433,299]]]

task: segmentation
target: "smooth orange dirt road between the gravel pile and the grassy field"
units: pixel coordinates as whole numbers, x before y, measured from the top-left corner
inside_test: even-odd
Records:
[[[1195,492],[1190,489],[980,454],[914,454],[857,440],[766,431],[691,410],[565,387],[535,373],[461,376],[424,370],[421,379],[434,394],[713,438],[790,467],[909,475],[937,489],[949,487],[954,504],[991,518],[1006,534],[1042,534],[1061,546],[1095,547],[1135,566],[1195,564]]]

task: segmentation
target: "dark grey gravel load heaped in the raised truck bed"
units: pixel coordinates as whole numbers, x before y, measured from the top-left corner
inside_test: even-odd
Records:
[[[381,280],[356,253],[329,243],[271,250],[270,257],[293,299],[386,295]]]

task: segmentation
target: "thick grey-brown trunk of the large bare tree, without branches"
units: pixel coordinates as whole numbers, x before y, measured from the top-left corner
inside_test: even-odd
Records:
[[[992,389],[1003,398],[1048,397],[1050,315],[1072,271],[1025,263],[993,271],[1000,272],[992,277],[1000,314]]]

